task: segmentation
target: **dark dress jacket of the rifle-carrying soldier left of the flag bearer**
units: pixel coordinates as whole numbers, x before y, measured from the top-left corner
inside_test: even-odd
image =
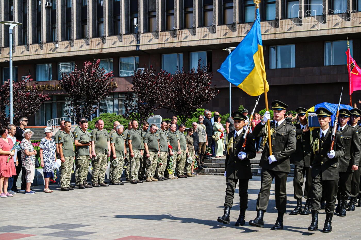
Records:
[[[244,130],[242,130],[242,133],[239,134],[236,139],[234,138],[234,132],[235,131],[230,132],[226,137],[226,177],[232,179],[251,179],[251,162],[249,160],[256,157],[255,137],[251,133],[248,133],[244,149],[246,158],[241,160],[237,155],[243,145]]]

